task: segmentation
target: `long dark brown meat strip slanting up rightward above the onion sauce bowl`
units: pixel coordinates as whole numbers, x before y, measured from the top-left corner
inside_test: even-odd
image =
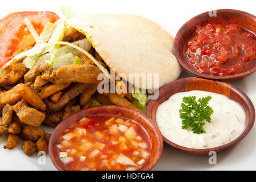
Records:
[[[82,93],[83,90],[88,88],[88,86],[88,84],[81,83],[72,84],[63,94],[57,104],[54,104],[51,100],[48,100],[48,98],[44,99],[44,102],[46,102],[47,104],[47,111],[49,113],[56,113],[60,111],[61,109],[63,109],[63,107],[65,107],[66,104],[68,104],[69,101]]]

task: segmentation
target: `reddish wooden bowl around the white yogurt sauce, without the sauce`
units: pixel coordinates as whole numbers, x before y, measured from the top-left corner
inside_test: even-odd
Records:
[[[245,138],[245,136],[252,129],[255,121],[255,109],[253,103],[246,96],[246,94],[242,92],[242,90],[227,82],[208,80],[199,77],[182,78],[174,82],[170,82],[167,85],[164,85],[162,88],[159,89],[158,99],[148,102],[146,111],[147,116],[152,118],[152,120],[156,123],[156,111],[160,104],[162,104],[164,101],[167,101],[168,98],[170,98],[175,93],[188,92],[191,90],[204,90],[208,92],[224,94],[228,98],[239,102],[245,110],[245,128],[243,129],[241,135],[238,138],[234,139],[232,142],[229,142],[219,147],[206,149],[194,149],[179,146],[178,144],[175,144],[163,137],[164,141],[170,144],[172,147],[187,154],[193,155],[208,155],[209,151],[216,151],[218,153],[226,150],[227,148],[239,142],[241,139]]]

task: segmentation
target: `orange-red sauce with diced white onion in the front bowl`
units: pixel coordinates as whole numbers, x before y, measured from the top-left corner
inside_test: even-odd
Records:
[[[55,144],[66,170],[139,170],[150,158],[151,140],[137,122],[92,115],[73,123]]]

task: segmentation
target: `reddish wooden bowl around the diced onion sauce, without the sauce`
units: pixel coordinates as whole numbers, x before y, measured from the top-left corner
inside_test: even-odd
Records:
[[[57,139],[59,139],[60,134],[63,133],[63,131],[67,129],[68,126],[84,117],[88,117],[89,115],[117,115],[119,113],[121,113],[122,117],[126,119],[133,119],[134,121],[138,122],[147,131],[148,135],[150,135],[152,142],[151,156],[146,165],[141,170],[147,171],[152,169],[152,167],[154,167],[158,162],[163,151],[163,138],[158,127],[152,121],[152,119],[148,118],[140,111],[117,105],[101,105],[89,107],[88,109],[83,109],[70,115],[68,118],[60,122],[60,124],[53,131],[51,139],[49,140],[49,156],[54,166],[60,171],[65,170],[64,167],[61,166],[59,158],[57,157],[56,151],[54,150],[54,145],[57,143]]]

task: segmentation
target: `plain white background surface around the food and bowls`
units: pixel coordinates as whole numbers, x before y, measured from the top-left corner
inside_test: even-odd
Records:
[[[77,15],[92,13],[129,13],[142,15],[154,20],[175,37],[179,28],[191,19],[205,11],[215,9],[237,9],[251,14],[255,12],[256,1],[2,1],[0,17],[14,12],[24,10],[48,10],[55,11],[61,15],[58,6],[70,5]],[[183,71],[181,77],[192,76]],[[251,101],[256,105],[256,73],[234,81],[232,84],[242,89]],[[255,127],[249,135],[236,146],[217,155],[217,165],[209,165],[209,156],[192,156],[174,150],[164,144],[164,151],[154,170],[246,170],[256,169],[256,130]],[[54,170],[49,158],[46,165],[38,165],[38,156],[32,158],[23,154],[19,146],[12,151],[2,149],[0,144],[0,169],[1,170]]]

